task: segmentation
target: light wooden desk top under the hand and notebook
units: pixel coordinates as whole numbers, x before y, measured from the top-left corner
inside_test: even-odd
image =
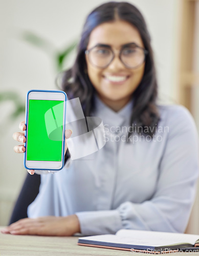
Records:
[[[0,227],[0,230],[3,227]],[[39,237],[18,236],[2,234],[0,232],[0,255],[1,256],[59,256],[59,255],[86,255],[86,256],[130,256],[149,255],[130,251],[103,249],[77,245],[78,237]],[[189,253],[167,253],[165,256],[190,255]],[[150,254],[155,255],[155,254]],[[199,255],[193,252],[191,255]]]

